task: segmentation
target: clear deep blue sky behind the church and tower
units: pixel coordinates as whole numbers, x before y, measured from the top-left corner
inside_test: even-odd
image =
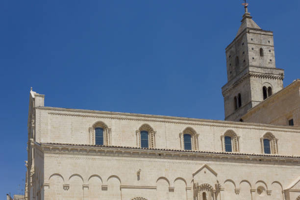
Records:
[[[249,0],[300,78],[300,1]],[[242,0],[2,0],[0,199],[25,178],[30,86],[52,107],[224,119],[225,48]],[[23,185],[23,184],[22,184]]]

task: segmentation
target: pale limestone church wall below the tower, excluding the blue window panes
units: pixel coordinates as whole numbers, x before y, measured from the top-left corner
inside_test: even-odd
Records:
[[[298,127],[53,108],[43,100],[30,92],[27,199],[300,196]],[[97,125],[107,129],[103,146],[95,145]],[[146,149],[138,138],[144,129],[153,135]],[[184,150],[186,133],[193,135],[192,150]],[[225,136],[232,138],[232,152],[225,152]],[[264,153],[264,138],[270,138],[272,154]]]

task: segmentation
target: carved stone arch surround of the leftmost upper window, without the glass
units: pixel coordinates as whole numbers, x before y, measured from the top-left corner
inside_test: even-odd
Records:
[[[111,128],[109,128],[104,122],[98,121],[89,127],[90,144],[95,145],[95,128],[103,128],[103,145],[111,145]]]

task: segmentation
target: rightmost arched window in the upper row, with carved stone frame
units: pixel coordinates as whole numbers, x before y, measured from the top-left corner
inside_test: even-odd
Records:
[[[266,154],[277,154],[277,141],[278,139],[275,136],[268,132],[264,134],[263,137],[260,138],[261,141],[261,151]]]

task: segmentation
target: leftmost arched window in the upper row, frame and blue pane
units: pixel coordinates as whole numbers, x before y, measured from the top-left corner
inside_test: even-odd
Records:
[[[92,145],[111,145],[111,129],[99,121],[89,127],[90,144]]]

